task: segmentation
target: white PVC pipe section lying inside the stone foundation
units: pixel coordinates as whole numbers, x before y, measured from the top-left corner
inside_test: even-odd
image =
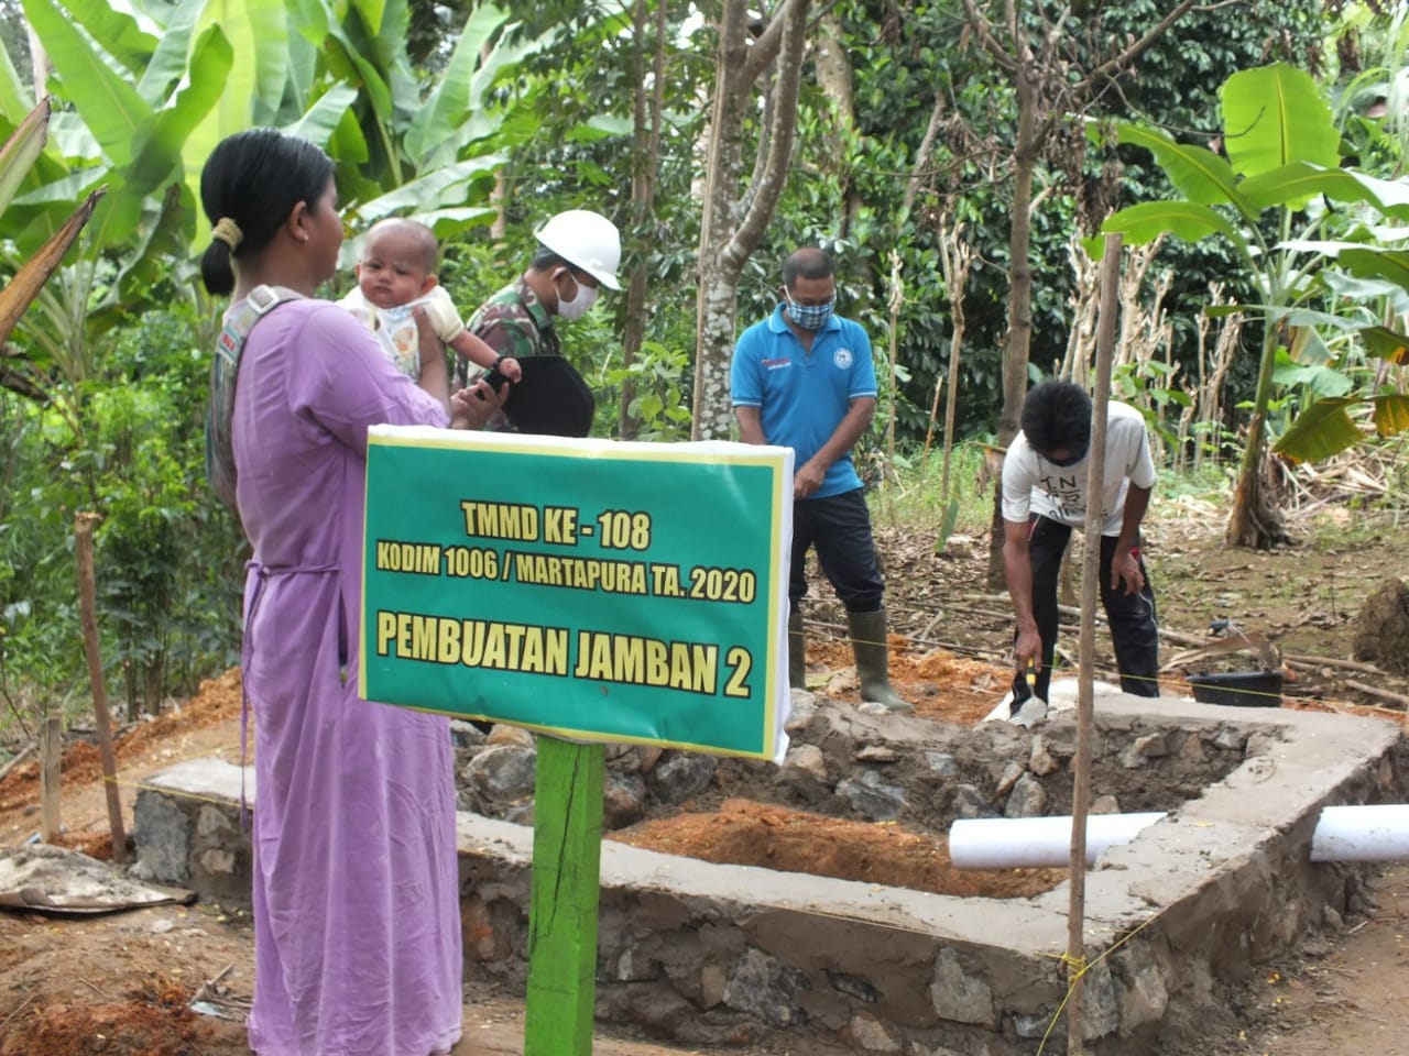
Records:
[[[1086,815],[1086,866],[1109,846],[1129,843],[1164,811]],[[1037,869],[1071,863],[1071,817],[961,818],[950,826],[955,869]]]

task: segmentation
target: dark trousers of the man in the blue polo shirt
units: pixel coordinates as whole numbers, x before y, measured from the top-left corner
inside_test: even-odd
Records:
[[[862,489],[826,498],[793,501],[792,573],[788,582],[788,608],[807,594],[807,549],[817,549],[817,563],[848,612],[875,612],[881,608],[885,582],[876,565],[871,538],[871,511]]]

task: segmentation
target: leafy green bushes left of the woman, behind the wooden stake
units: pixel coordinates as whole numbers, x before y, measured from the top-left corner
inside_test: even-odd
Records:
[[[228,666],[238,642],[240,532],[204,480],[206,358],[190,310],[152,313],[114,349],[120,373],[85,386],[83,442],[69,422],[3,397],[11,445],[0,548],[4,667],[46,693],[86,681],[72,551],[73,514],[99,510],[94,577],[108,679],[128,708]],[[120,679],[114,676],[121,676]]]

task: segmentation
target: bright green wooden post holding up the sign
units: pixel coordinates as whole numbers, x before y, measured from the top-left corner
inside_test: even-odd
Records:
[[[590,1056],[606,748],[538,738],[524,1056]]]

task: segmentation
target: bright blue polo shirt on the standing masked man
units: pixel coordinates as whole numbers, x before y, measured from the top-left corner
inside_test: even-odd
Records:
[[[851,401],[875,397],[876,375],[871,339],[851,320],[833,315],[812,339],[812,349],[783,320],[783,306],[738,337],[730,366],[735,407],[758,407],[764,438],[792,448],[800,466],[828,441]],[[848,451],[827,469],[810,496],[826,498],[861,487]]]

